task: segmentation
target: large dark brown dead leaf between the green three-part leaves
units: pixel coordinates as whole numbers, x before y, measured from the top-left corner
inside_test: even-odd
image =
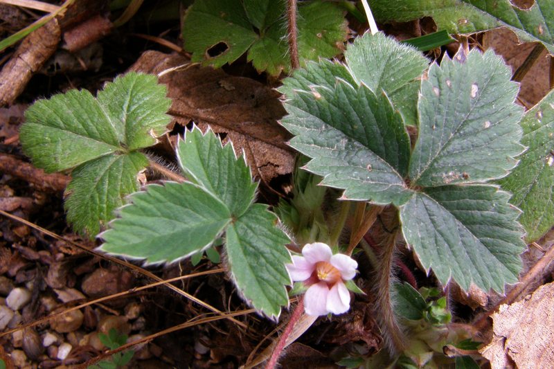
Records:
[[[193,120],[203,130],[209,125],[223,134],[224,141],[233,141],[238,154],[244,150],[253,174],[265,183],[292,172],[294,153],[285,145],[290,136],[276,122],[285,115],[276,91],[251,78],[157,51],[144,53],[131,70],[165,71],[159,82],[168,86],[174,121],[186,125]]]

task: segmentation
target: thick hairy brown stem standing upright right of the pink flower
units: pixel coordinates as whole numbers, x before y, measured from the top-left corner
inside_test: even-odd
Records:
[[[376,316],[391,355],[399,354],[406,349],[406,337],[396,320],[391,296],[395,246],[396,232],[389,233],[379,250],[378,265],[375,269]]]

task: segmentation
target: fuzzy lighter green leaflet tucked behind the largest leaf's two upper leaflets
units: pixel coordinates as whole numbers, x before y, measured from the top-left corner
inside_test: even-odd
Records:
[[[420,78],[428,61],[411,46],[399,44],[383,33],[357,37],[344,57],[358,84],[383,90],[408,125],[417,125]]]

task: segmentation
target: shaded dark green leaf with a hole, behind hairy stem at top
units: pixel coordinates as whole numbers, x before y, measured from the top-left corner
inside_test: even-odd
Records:
[[[271,75],[289,71],[286,1],[197,0],[185,16],[183,39],[193,62],[216,67],[248,60]],[[333,57],[348,28],[343,10],[325,1],[298,5],[298,55],[303,60]]]

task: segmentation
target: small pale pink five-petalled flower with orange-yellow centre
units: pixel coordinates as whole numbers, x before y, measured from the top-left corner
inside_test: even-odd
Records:
[[[344,281],[354,278],[358,263],[341,253],[333,255],[331,248],[322,242],[306,244],[302,255],[294,255],[287,269],[292,280],[310,286],[304,296],[306,314],[320,316],[348,312],[350,292]]]

